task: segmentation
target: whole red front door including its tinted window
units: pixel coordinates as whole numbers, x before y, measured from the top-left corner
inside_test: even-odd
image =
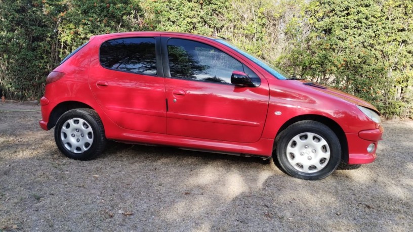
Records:
[[[209,44],[162,38],[169,72],[167,133],[240,143],[257,142],[268,110],[265,78]],[[165,54],[165,53],[163,53]],[[166,55],[166,54],[165,54]],[[233,71],[249,74],[258,87],[231,84]]]

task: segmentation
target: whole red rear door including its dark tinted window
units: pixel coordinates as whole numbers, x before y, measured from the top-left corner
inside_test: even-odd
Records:
[[[92,56],[89,84],[104,112],[118,126],[166,133],[166,101],[160,38],[103,41]]]

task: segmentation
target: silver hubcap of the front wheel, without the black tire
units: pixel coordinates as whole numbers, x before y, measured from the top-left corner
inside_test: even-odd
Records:
[[[294,136],[286,149],[288,162],[297,170],[314,173],[323,169],[330,159],[328,143],[318,134],[305,132]]]

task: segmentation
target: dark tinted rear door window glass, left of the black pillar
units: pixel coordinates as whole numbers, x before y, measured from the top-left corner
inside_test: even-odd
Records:
[[[154,38],[121,38],[106,41],[100,47],[103,67],[119,71],[156,75]]]

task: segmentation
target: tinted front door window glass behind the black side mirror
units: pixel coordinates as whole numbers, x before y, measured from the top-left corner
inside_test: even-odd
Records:
[[[230,84],[233,71],[244,71],[234,58],[191,40],[168,40],[168,58],[172,77]]]

